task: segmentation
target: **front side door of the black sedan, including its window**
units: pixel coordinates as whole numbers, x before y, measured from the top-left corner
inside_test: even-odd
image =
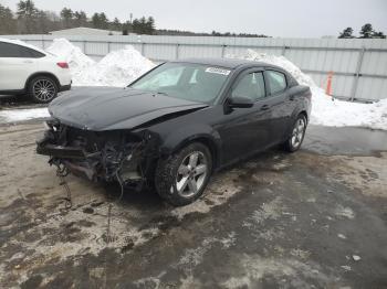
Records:
[[[270,105],[265,98],[265,84],[261,69],[242,73],[224,103],[224,115],[218,131],[222,139],[223,162],[229,163],[270,142]],[[254,103],[250,108],[229,108],[228,101],[236,96],[249,97]]]

